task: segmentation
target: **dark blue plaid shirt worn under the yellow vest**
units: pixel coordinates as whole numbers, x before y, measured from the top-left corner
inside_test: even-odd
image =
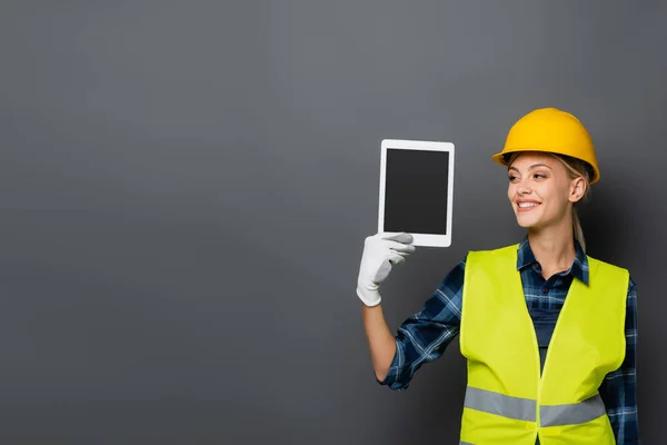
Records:
[[[588,284],[588,258],[575,240],[577,255],[568,270],[549,279],[541,276],[539,263],[530,249],[528,238],[520,244],[517,269],[521,274],[526,304],[537,333],[541,363],[556,325],[556,319],[574,278]],[[425,303],[421,312],[406,319],[396,336],[396,355],[389,374],[381,385],[400,390],[409,386],[415,373],[425,363],[439,358],[457,336],[461,319],[461,298],[466,258],[445,277]],[[617,444],[639,444],[637,424],[637,291],[630,278],[626,313],[626,356],[617,370],[609,373],[599,393],[605,402]]]

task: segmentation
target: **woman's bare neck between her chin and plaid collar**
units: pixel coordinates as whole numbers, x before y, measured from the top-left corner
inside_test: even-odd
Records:
[[[567,270],[571,266],[577,255],[573,239],[571,224],[560,228],[530,228],[528,230],[530,249],[547,277]]]

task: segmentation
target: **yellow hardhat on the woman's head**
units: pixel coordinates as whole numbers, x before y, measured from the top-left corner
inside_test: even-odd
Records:
[[[505,155],[516,151],[546,151],[570,156],[590,166],[590,184],[600,178],[590,135],[579,119],[557,108],[539,108],[517,120],[507,135],[505,148],[491,159],[507,166]]]

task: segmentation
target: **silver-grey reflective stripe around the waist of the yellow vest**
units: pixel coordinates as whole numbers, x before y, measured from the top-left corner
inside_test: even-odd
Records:
[[[466,408],[495,414],[516,421],[536,422],[536,400],[511,397],[471,386],[466,388]],[[606,414],[599,394],[576,404],[542,405],[539,408],[540,426],[584,424]]]

